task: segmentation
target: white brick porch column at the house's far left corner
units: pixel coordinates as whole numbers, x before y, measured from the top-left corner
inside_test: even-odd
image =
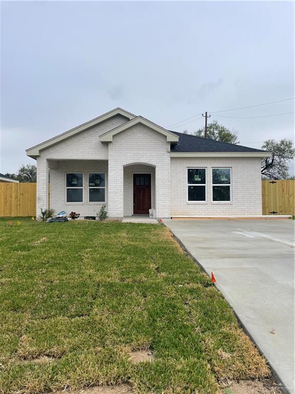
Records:
[[[36,218],[40,216],[42,209],[49,208],[49,165],[48,161],[41,156],[37,157],[37,200]]]

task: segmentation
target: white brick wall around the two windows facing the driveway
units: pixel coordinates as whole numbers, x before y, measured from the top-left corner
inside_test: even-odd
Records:
[[[261,159],[171,158],[171,215],[261,215]],[[187,168],[207,168],[206,202],[187,202]],[[231,202],[212,202],[212,168],[231,168]]]

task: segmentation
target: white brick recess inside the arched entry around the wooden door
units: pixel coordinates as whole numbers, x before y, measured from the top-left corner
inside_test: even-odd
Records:
[[[134,173],[151,173],[151,198],[152,209],[156,206],[155,195],[155,167],[135,164],[124,167],[124,216],[133,214],[133,174]]]

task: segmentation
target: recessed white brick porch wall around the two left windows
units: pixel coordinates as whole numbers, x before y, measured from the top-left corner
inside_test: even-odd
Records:
[[[83,202],[66,202],[66,172],[83,173]],[[66,211],[67,215],[71,211],[80,213],[81,216],[96,216],[101,203],[88,202],[88,173],[106,173],[106,203],[108,203],[108,161],[75,160],[58,161],[57,168],[50,169],[50,207],[59,211]]]

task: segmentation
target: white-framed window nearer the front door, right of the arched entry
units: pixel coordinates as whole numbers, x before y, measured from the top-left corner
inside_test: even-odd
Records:
[[[187,169],[187,200],[206,201],[206,169]]]

